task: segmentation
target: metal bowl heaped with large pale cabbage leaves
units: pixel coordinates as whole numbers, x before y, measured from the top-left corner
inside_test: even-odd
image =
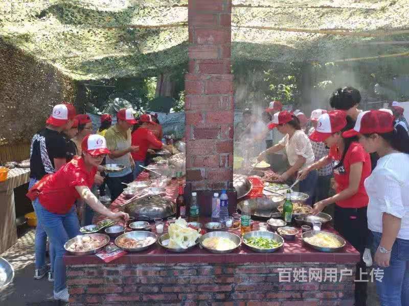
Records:
[[[184,219],[169,224],[169,231],[157,240],[159,245],[171,252],[186,252],[199,243],[199,231],[188,227]]]

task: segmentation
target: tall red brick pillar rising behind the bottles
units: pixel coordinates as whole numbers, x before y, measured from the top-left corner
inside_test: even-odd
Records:
[[[189,0],[186,177],[192,190],[219,190],[233,180],[231,0]]]

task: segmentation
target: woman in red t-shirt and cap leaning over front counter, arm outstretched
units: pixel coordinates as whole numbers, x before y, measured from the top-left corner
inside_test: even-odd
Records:
[[[55,250],[54,298],[65,302],[69,299],[69,293],[65,284],[64,244],[80,235],[74,202],[82,199],[93,210],[114,221],[129,219],[126,213],[108,210],[90,190],[98,166],[109,154],[105,138],[87,135],[82,140],[81,149],[81,156],[74,157],[56,173],[44,176],[27,193],[36,202],[38,222]]]

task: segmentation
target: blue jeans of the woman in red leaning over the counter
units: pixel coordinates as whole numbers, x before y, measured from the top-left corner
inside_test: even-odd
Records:
[[[38,211],[37,220],[41,222],[55,250],[54,292],[60,292],[66,288],[65,264],[62,260],[65,254],[64,243],[81,235],[78,216],[74,206],[66,214],[54,214],[43,208],[38,198],[34,202]]]

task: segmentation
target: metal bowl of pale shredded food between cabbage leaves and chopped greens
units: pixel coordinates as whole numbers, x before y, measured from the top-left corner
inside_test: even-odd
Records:
[[[211,253],[230,253],[241,245],[239,236],[229,232],[210,232],[199,238],[200,247]]]

